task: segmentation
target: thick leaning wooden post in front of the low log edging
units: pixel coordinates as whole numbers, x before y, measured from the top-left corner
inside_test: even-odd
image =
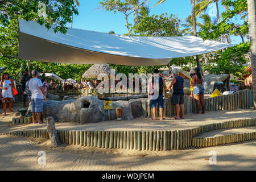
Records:
[[[53,117],[47,117],[46,122],[47,122],[46,128],[49,133],[49,138],[51,139],[52,146],[57,147],[60,144],[60,139],[59,137],[57,137],[57,130],[55,128],[55,122]]]

